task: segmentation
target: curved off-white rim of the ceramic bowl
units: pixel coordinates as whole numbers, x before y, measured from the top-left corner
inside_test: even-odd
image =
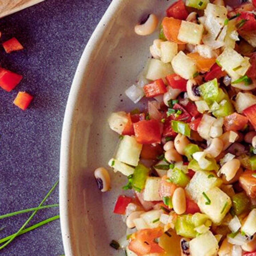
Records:
[[[59,170],[59,208],[60,208],[60,225],[62,242],[66,256],[75,256],[73,254],[70,232],[70,217],[68,210],[68,174],[71,164],[70,153],[72,151],[72,131],[74,129],[74,116],[76,114],[77,99],[83,85],[83,78],[89,71],[89,64],[92,61],[97,46],[101,43],[105,35],[106,28],[114,18],[115,13],[124,3],[123,0],[113,0],[107,8],[105,14],[101,18],[95,28],[91,38],[89,39],[82,56],[80,58],[75,76],[71,85],[68,101],[65,109],[65,115],[62,126],[61,146],[60,146],[60,170]]]

